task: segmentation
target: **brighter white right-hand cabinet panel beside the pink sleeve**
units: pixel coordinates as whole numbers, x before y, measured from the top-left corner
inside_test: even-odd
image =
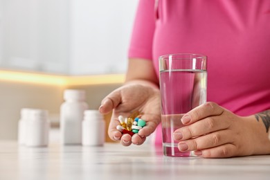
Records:
[[[70,74],[125,73],[137,3],[71,1]]]

